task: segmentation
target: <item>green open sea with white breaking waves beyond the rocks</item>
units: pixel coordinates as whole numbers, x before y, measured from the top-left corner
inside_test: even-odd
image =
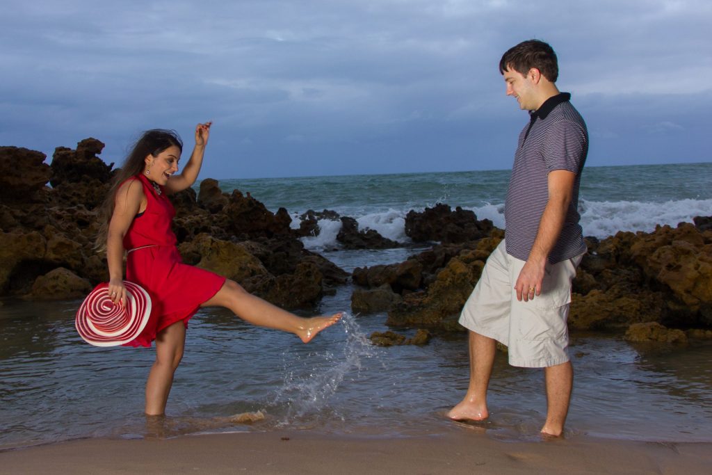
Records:
[[[437,203],[473,211],[504,227],[508,170],[417,174],[219,179],[224,192],[250,192],[268,209],[286,208],[299,226],[308,209],[330,209],[357,219],[360,228],[408,242],[406,214]],[[618,231],[646,231],[656,224],[691,222],[712,215],[712,162],[585,168],[579,212],[585,236],[605,238]],[[336,245],[340,221],[321,221],[321,233],[304,240],[310,249]]]

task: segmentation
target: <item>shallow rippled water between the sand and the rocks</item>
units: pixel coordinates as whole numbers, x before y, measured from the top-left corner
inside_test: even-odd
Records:
[[[348,308],[351,289],[320,311]],[[317,429],[400,437],[452,430],[444,414],[464,395],[466,335],[423,347],[374,347],[385,315],[347,315],[309,345],[256,328],[221,309],[189,328],[166,419],[147,424],[143,390],[152,349],[94,348],[75,333],[77,301],[0,306],[0,448],[80,437],[170,437],[231,430]],[[403,330],[411,334],[414,330]],[[567,435],[712,441],[712,342],[644,348],[575,335],[575,394]],[[491,419],[502,440],[536,439],[545,416],[543,375],[496,358]],[[234,424],[234,414],[264,420]]]

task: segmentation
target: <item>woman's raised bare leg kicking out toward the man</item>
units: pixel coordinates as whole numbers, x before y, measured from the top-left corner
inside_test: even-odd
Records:
[[[229,308],[235,315],[253,325],[294,333],[304,343],[308,343],[317,333],[341,318],[340,313],[326,317],[298,317],[251,295],[238,283],[230,280],[225,281],[213,298],[201,305],[201,307],[215,306]]]

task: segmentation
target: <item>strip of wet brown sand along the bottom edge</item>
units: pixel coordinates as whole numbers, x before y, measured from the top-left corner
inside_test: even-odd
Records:
[[[573,437],[501,442],[439,436],[344,437],[310,431],[175,439],[83,439],[0,452],[0,474],[703,474],[710,443]]]

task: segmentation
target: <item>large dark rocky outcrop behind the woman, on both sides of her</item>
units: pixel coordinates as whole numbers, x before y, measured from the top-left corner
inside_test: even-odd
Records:
[[[103,146],[87,139],[76,150],[58,147],[51,165],[41,152],[0,147],[0,295],[75,298],[106,280],[105,257],[93,249],[97,207],[113,176],[113,164],[97,157]],[[347,281],[348,273],[304,249],[286,209],[272,213],[249,193],[224,194],[211,179],[199,194],[186,189],[171,199],[184,261],[277,305],[313,306]]]

